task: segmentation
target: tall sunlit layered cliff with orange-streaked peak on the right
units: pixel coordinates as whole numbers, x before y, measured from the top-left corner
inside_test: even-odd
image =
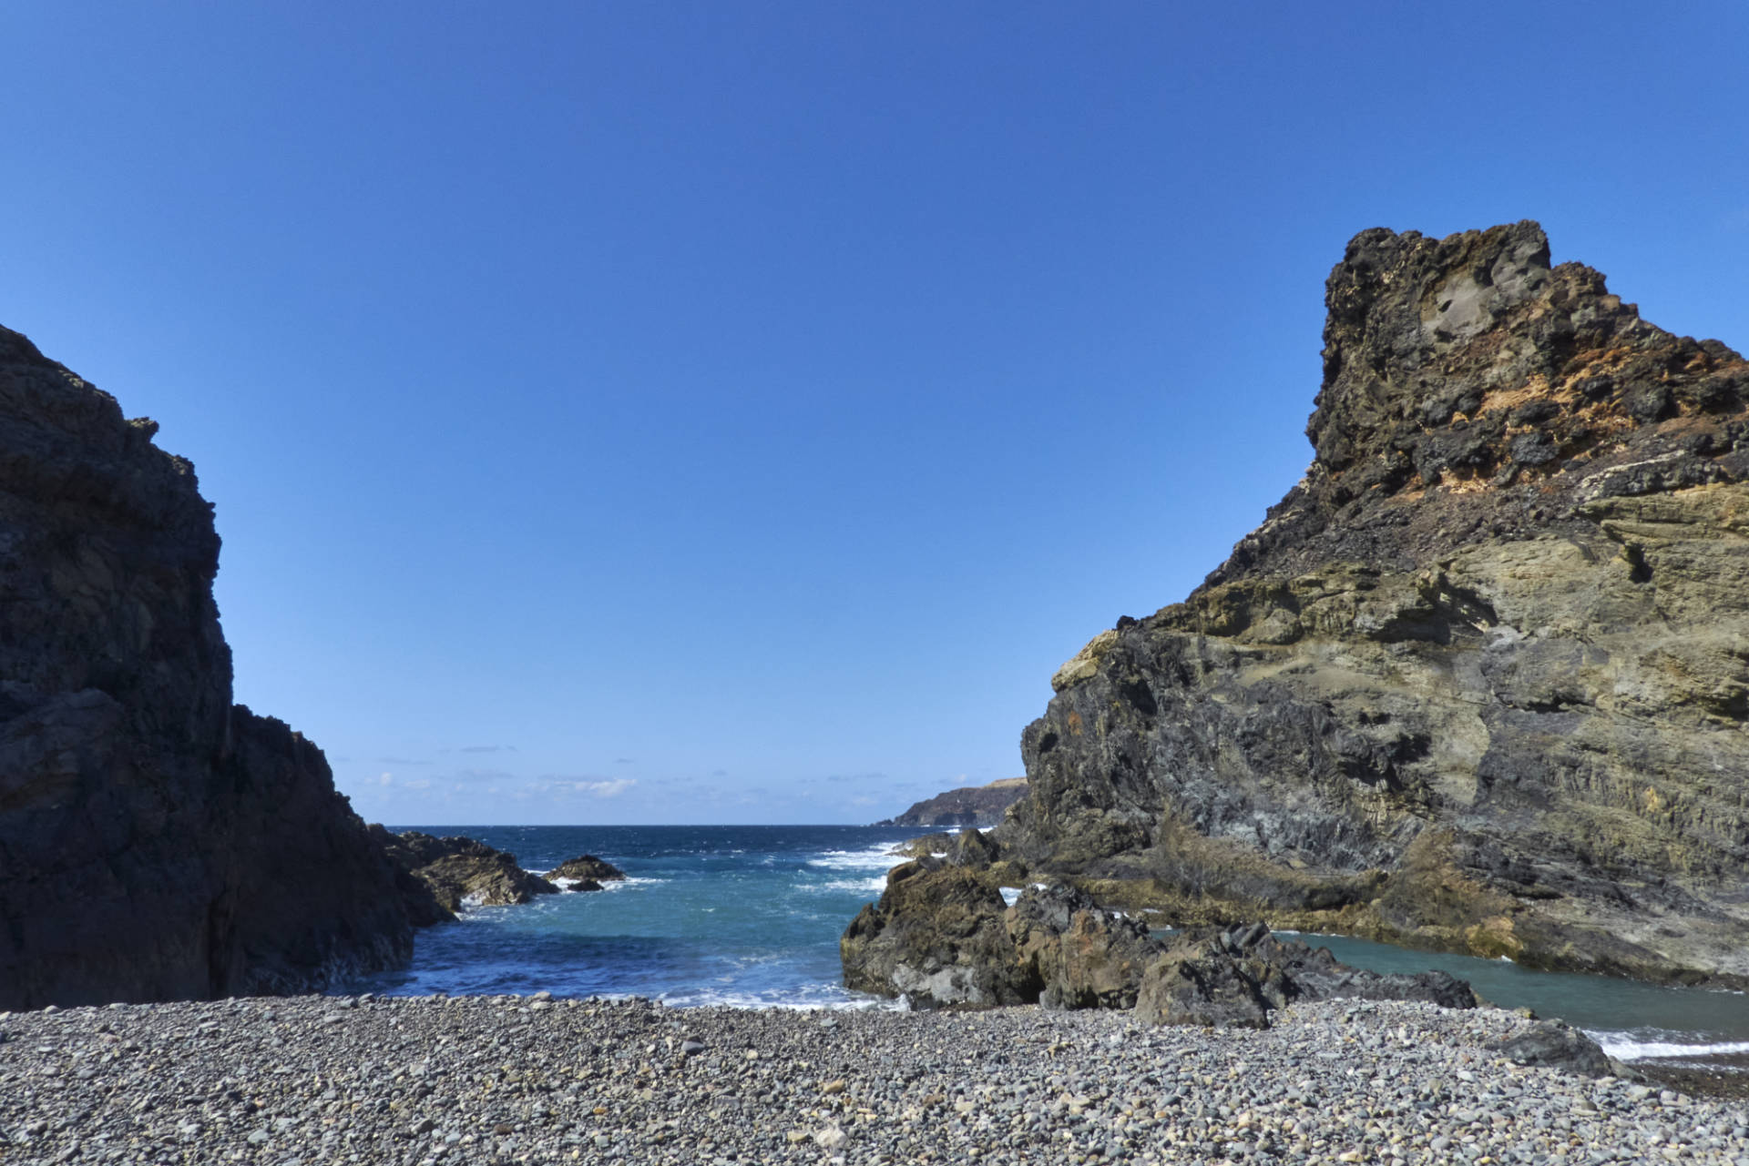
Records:
[[[1307,477],[1027,727],[1109,900],[1749,984],[1749,365],[1530,222],[1366,231]]]

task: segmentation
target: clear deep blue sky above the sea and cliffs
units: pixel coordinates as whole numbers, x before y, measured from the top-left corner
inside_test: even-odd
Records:
[[[868,822],[1293,486],[1364,227],[1749,346],[1749,5],[10,3],[0,323],[390,823]]]

